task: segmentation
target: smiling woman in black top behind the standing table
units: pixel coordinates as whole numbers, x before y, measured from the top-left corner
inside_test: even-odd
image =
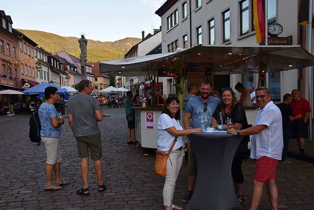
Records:
[[[222,98],[221,104],[217,106],[214,114],[212,115],[211,125],[217,127],[217,120],[219,117],[219,112],[224,119],[224,130],[228,129],[228,126],[225,124],[226,118],[229,117],[233,120],[233,125],[231,128],[235,130],[246,129],[248,128],[248,123],[245,115],[243,106],[240,103],[235,101],[235,93],[231,87],[225,87],[221,90]],[[248,156],[248,147],[247,144],[250,141],[249,136],[244,136],[239,146],[235,151],[235,156],[232,161],[231,174],[235,184],[235,193],[240,204],[244,201],[243,197],[243,182],[244,177],[241,169],[242,159],[246,159]]]

